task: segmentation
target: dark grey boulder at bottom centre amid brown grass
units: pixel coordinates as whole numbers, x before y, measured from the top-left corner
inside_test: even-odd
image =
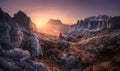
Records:
[[[65,71],[81,71],[82,69],[79,59],[74,55],[69,57],[62,56],[60,57],[59,62],[64,66]]]

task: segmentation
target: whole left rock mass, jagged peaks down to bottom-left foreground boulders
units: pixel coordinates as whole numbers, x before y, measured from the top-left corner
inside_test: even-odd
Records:
[[[0,68],[6,71],[48,71],[46,65],[32,61],[43,56],[29,17],[19,11],[10,17],[0,8]]]

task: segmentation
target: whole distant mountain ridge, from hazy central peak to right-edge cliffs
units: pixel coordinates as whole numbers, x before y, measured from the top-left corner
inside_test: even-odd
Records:
[[[111,17],[107,15],[98,15],[78,20],[76,24],[65,25],[60,20],[50,19],[46,28],[49,32],[58,34],[59,32],[68,35],[86,35],[90,32],[96,32],[104,29],[119,28],[119,16]]]

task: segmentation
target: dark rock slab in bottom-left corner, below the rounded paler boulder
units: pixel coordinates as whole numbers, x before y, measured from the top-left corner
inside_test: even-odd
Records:
[[[11,54],[11,56],[14,54]],[[29,58],[22,59],[22,57],[17,56],[17,60],[0,57],[0,66],[5,71],[48,71],[48,67],[41,62],[32,61]],[[19,59],[20,58],[20,59]]]

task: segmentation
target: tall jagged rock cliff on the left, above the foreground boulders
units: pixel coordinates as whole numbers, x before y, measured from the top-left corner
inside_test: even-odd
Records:
[[[31,28],[31,20],[26,14],[24,14],[22,11],[19,11],[14,15],[13,18],[11,18],[6,16],[7,14],[2,10],[0,13],[0,43],[2,47],[24,48],[25,46],[21,46],[23,43],[22,41],[28,39],[26,43],[29,45],[28,50],[30,50],[31,55],[43,55],[39,40]]]

